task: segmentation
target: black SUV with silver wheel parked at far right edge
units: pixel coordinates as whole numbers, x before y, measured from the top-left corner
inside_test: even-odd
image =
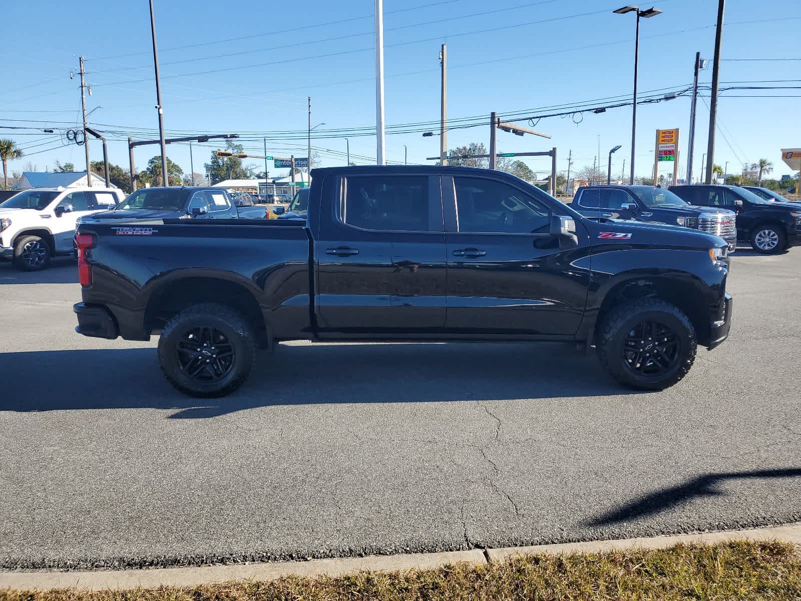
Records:
[[[763,199],[739,186],[670,186],[690,204],[737,213],[737,239],[765,255],[801,244],[801,207]]]

